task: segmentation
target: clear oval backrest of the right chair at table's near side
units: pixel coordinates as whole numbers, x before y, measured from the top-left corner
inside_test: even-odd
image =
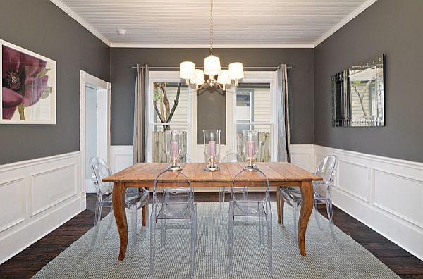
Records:
[[[245,169],[233,178],[231,202],[247,215],[254,215],[270,202],[269,179],[259,169]]]

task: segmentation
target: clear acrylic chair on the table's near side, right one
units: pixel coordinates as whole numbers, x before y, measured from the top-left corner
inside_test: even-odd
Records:
[[[250,182],[253,180],[254,182]],[[236,191],[240,187],[247,187],[247,190],[258,190],[250,192],[248,199],[245,199],[243,192]],[[260,191],[261,190],[261,191]],[[266,224],[267,237],[267,260],[268,271],[272,271],[272,228],[271,228],[271,204],[269,195],[269,180],[259,169],[240,171],[234,178],[231,187],[231,202],[228,211],[228,254],[229,272],[233,273],[233,230],[235,217],[248,216],[259,219],[259,247],[264,249],[264,223]],[[266,222],[265,222],[266,221]]]

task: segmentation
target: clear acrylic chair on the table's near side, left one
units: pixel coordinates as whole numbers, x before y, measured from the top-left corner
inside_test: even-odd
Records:
[[[150,277],[154,277],[156,256],[156,225],[161,222],[161,251],[166,249],[168,220],[187,220],[190,228],[190,274],[195,271],[197,248],[197,205],[190,180],[180,171],[164,171],[154,181],[153,204],[150,217]]]

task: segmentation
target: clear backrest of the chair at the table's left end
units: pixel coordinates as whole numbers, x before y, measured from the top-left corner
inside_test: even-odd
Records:
[[[97,195],[109,194],[112,191],[113,183],[102,182],[103,178],[106,178],[111,174],[110,168],[106,161],[99,157],[90,158],[91,176],[94,181],[95,190]]]

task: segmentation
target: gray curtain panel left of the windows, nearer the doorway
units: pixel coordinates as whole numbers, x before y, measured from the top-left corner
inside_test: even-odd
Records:
[[[148,66],[137,65],[137,81],[135,82],[135,106],[134,106],[134,138],[133,138],[133,161],[145,162],[145,121],[148,89]]]

